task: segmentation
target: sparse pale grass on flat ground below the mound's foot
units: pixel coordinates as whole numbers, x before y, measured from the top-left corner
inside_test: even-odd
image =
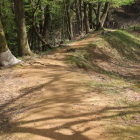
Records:
[[[128,91],[132,92],[140,92],[139,85],[135,83],[131,83],[126,81],[125,79],[112,79],[108,80],[105,78],[98,78],[95,77],[94,80],[90,80],[86,82],[87,86],[92,92],[98,92],[105,95],[125,95]],[[124,98],[123,100],[119,100],[120,103],[129,103],[129,104],[135,104],[134,101],[128,101],[127,98]]]

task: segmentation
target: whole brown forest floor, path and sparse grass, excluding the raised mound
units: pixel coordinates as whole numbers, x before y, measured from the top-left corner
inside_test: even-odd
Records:
[[[66,59],[67,49],[93,41],[90,34],[0,70],[0,140],[140,140],[139,85],[84,71]],[[139,63],[121,68],[139,82]]]

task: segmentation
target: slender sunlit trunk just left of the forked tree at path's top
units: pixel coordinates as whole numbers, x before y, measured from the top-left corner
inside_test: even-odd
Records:
[[[89,33],[89,19],[88,19],[88,4],[87,2],[84,2],[84,24],[85,24],[85,30],[86,34]]]

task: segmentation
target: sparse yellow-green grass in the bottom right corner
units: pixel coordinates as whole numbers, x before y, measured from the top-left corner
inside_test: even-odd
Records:
[[[139,104],[120,107],[107,127],[110,140],[140,140]]]

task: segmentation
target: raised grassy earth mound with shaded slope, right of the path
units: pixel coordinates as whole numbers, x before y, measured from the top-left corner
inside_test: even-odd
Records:
[[[98,73],[129,79],[120,69],[135,68],[137,66],[134,65],[139,64],[139,38],[123,31],[106,31],[104,35],[95,38],[95,42],[69,56],[69,60],[80,68],[91,68]],[[111,69],[108,65],[111,65]],[[130,75],[130,79],[137,78]]]

